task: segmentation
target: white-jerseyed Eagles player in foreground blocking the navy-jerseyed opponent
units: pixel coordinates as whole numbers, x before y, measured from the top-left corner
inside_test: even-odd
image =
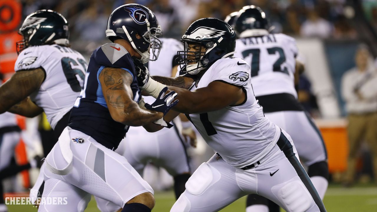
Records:
[[[175,112],[187,114],[217,154],[193,173],[170,211],[218,211],[247,194],[262,195],[287,212],[326,211],[290,136],[257,104],[250,66],[232,57],[233,29],[217,18],[203,18],[190,25],[181,41],[180,76],[150,78],[145,71],[140,85],[153,97],[166,85],[175,91]]]

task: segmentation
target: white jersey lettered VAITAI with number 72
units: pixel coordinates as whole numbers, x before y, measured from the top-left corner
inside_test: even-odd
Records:
[[[288,93],[297,98],[294,89],[297,46],[294,38],[285,34],[239,38],[235,57],[251,65],[251,82],[256,97]]]

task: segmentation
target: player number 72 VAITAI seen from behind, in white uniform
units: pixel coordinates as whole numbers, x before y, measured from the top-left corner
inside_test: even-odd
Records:
[[[251,64],[255,98],[268,119],[291,135],[308,175],[323,199],[328,185],[326,147],[311,117],[297,100],[296,41],[285,34],[270,34],[271,26],[261,8],[245,6],[239,11],[234,29],[236,57]],[[270,210],[268,209],[270,205]],[[247,198],[247,212],[279,212],[279,207],[256,194]]]

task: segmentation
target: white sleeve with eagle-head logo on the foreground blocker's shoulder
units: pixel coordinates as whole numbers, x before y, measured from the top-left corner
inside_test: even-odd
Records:
[[[214,64],[216,71],[211,71],[208,84],[211,81],[222,81],[235,86],[247,86],[250,84],[250,66],[241,58],[229,58],[220,60]]]

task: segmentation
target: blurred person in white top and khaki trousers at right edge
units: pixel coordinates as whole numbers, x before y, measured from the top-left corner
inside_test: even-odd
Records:
[[[368,47],[359,46],[356,67],[342,77],[342,96],[348,113],[348,167],[345,186],[354,183],[357,154],[362,141],[368,142],[377,182],[377,72]]]

